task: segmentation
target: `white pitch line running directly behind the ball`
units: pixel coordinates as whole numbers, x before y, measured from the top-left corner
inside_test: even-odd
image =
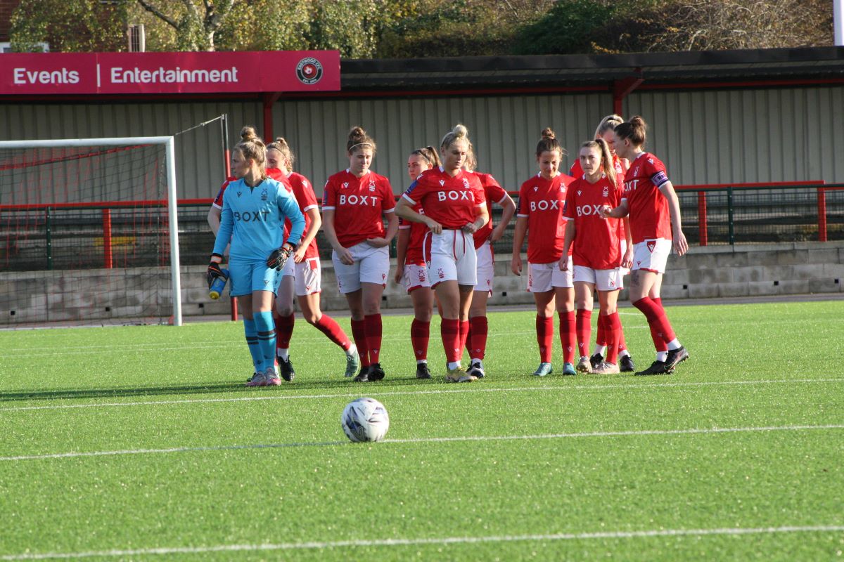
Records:
[[[811,430],[840,430],[844,424],[829,424],[825,426],[764,426],[764,427],[709,427],[684,430],[630,430],[630,431],[592,431],[583,433],[544,433],[539,435],[504,435],[504,436],[455,436],[455,437],[418,437],[411,439],[385,439],[382,443],[446,443],[470,441],[533,441],[539,439],[571,439],[587,437],[620,437],[620,436],[652,436],[652,435],[699,435],[713,433],[749,433],[753,431],[811,431]],[[349,442],[300,442],[300,443],[258,443],[254,445],[220,445],[216,447],[171,447],[168,449],[123,449],[120,451],[89,451],[89,452],[54,452],[44,455],[19,455],[15,457],[0,457],[0,462],[33,461],[51,458],[80,458],[80,457],[115,457],[119,455],[152,455],[171,452],[206,452],[206,451],[240,451],[246,449],[284,449],[291,447],[330,447],[349,445]]]

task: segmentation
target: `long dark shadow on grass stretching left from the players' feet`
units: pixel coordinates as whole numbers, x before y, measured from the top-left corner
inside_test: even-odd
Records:
[[[392,386],[408,386],[420,384],[440,385],[436,378],[430,381],[421,381],[415,377],[390,378],[377,383],[354,383],[351,378],[328,379],[328,380],[301,380],[295,378],[293,383],[282,383],[280,387],[268,388],[247,388],[246,379],[241,381],[227,381],[216,383],[196,384],[165,384],[149,387],[116,386],[109,388],[43,388],[32,390],[19,390],[12,393],[0,393],[0,404],[3,402],[21,402],[28,400],[68,400],[68,399],[92,399],[92,398],[122,398],[127,396],[178,396],[178,395],[201,395],[215,393],[235,393],[238,395],[248,394],[255,396],[270,396],[273,393],[285,393],[285,391],[299,390],[322,390],[322,391],[348,391],[350,394],[364,395],[367,392],[376,392],[380,388]]]

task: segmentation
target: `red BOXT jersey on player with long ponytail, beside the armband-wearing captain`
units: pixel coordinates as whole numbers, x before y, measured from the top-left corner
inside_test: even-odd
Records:
[[[565,195],[563,216],[575,222],[575,239],[571,244],[574,265],[593,270],[614,270],[621,265],[619,218],[601,218],[604,205],[619,206],[621,187],[603,175],[594,184],[586,178],[575,179]]]

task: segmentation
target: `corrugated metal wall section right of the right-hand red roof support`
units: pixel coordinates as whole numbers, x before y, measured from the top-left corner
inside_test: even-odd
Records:
[[[625,110],[675,184],[844,183],[844,88],[634,92]]]

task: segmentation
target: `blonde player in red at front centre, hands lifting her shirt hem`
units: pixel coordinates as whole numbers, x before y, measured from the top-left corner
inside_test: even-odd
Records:
[[[423,172],[396,207],[399,216],[422,222],[430,230],[425,236],[425,261],[441,307],[448,383],[477,380],[461,365],[468,337],[468,330],[461,328],[468,326],[469,306],[478,282],[472,234],[489,221],[489,215],[479,179],[463,171],[468,147],[466,127],[455,126],[440,143],[442,166]],[[417,204],[425,214],[414,211]]]

